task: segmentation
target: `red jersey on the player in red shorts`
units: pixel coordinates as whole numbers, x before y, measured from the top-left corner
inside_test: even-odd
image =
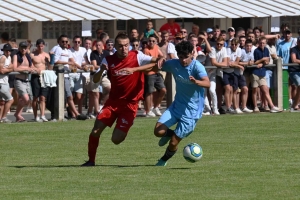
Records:
[[[129,51],[126,58],[120,59],[117,54],[107,56],[107,75],[111,82],[109,99],[126,99],[128,101],[138,101],[143,99],[144,94],[144,74],[134,72],[130,75],[120,75],[118,71],[123,68],[138,67],[137,51]]]

